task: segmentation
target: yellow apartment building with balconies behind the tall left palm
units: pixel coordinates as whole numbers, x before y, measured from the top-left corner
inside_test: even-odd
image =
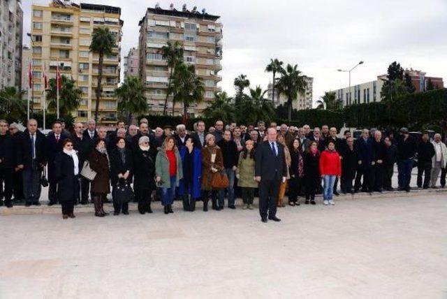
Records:
[[[33,38],[32,68],[34,109],[42,109],[42,72],[56,77],[59,64],[61,75],[76,81],[82,90],[82,100],[73,116],[80,122],[94,118],[98,82],[98,54],[89,51],[91,34],[96,27],[108,27],[117,38],[117,47],[104,57],[103,90],[98,122],[112,124],[117,120],[115,88],[119,83],[120,51],[123,21],[121,8],[71,1],[53,0],[48,6],[33,5],[31,34]],[[26,70],[27,71],[27,70]]]

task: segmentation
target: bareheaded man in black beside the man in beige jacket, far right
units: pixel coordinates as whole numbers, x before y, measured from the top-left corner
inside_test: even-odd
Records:
[[[418,153],[418,188],[428,189],[430,184],[430,175],[432,174],[432,158],[435,154],[434,146],[430,143],[430,135],[424,131],[422,140],[417,147]],[[422,176],[425,173],[424,183]]]

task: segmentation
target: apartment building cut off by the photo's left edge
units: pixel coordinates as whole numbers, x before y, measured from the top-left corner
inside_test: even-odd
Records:
[[[20,0],[0,1],[0,89],[22,85],[22,36]]]

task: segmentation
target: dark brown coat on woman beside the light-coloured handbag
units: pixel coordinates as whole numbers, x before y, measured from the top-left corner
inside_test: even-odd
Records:
[[[107,154],[101,154],[94,149],[89,156],[91,170],[96,172],[96,176],[91,181],[91,193],[108,194],[110,193],[110,169]]]

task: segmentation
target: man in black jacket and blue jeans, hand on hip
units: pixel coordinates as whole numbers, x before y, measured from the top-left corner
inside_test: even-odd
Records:
[[[217,143],[221,148],[223,157],[223,167],[225,168],[226,175],[228,175],[228,207],[230,209],[235,209],[235,171],[237,169],[237,161],[239,159],[239,153],[237,152],[236,143],[231,140],[230,130],[223,132],[223,139]],[[219,191],[219,208],[223,209],[225,189]]]

